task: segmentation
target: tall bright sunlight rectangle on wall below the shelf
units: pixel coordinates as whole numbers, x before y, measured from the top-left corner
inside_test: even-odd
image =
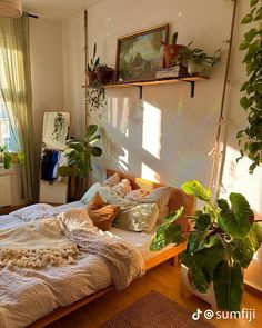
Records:
[[[161,150],[161,110],[151,103],[143,102],[142,147],[160,159]]]

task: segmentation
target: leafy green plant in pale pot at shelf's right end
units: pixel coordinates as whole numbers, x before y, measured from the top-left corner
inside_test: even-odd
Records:
[[[213,56],[208,56],[203,49],[191,48],[193,42],[184,47],[179,56],[187,60],[188,73],[202,73],[206,66],[213,67],[221,61],[221,49],[216,50]]]

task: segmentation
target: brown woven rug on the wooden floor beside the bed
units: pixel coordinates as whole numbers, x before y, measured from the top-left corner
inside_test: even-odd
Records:
[[[168,297],[150,291],[101,328],[214,328],[204,320],[194,321],[192,314]]]

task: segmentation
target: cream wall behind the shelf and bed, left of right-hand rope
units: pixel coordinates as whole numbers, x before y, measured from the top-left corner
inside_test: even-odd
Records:
[[[89,118],[89,121],[101,125],[107,135],[105,156],[97,162],[94,179],[95,173],[98,176],[110,167],[173,186],[192,178],[208,183],[212,163],[208,153],[215,140],[232,3],[200,2],[193,11],[190,0],[164,0],[161,3],[158,0],[104,0],[89,9],[89,52],[97,42],[101,60],[113,67],[118,37],[163,22],[170,23],[170,34],[179,31],[179,42],[187,44],[194,40],[195,46],[208,52],[218,48],[223,50],[223,62],[213,70],[212,79],[196,83],[195,98],[190,98],[187,83],[143,88],[143,102],[135,88],[108,90],[103,119]],[[83,40],[83,14],[69,19],[67,27],[69,21],[74,31],[79,26],[78,33],[70,34],[63,24],[63,40],[67,38],[69,44],[70,40]],[[80,44],[78,42],[74,49],[78,54],[83,50],[83,41]],[[68,60],[72,58],[68,51],[72,49],[64,51],[64,70],[75,66]],[[79,56],[78,60],[83,68],[82,57]],[[73,76],[70,81],[74,87],[80,86]],[[68,92],[70,87],[66,86],[64,93]],[[82,90],[79,88],[75,92],[74,98],[83,101]],[[83,116],[82,111],[78,117],[79,125]],[[121,168],[119,159],[122,159]]]

